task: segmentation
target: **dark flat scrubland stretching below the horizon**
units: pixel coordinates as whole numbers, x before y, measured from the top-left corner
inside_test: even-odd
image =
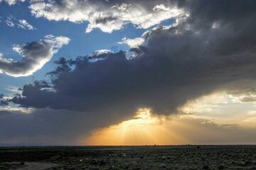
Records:
[[[256,146],[0,147],[0,169],[256,170]]]

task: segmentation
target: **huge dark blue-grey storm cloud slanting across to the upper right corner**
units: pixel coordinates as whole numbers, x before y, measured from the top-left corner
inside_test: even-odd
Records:
[[[23,107],[79,112],[90,115],[85,124],[95,120],[107,125],[111,118],[122,120],[139,107],[153,108],[158,114],[177,113],[194,98],[239,91],[250,86],[249,80],[255,82],[256,1],[179,3],[189,11],[189,18],[178,26],[147,31],[146,45],[132,49],[139,57],[127,60],[121,51],[107,52],[101,56],[106,60],[94,63],[87,61],[88,56],[61,59],[50,73],[50,84],[26,84],[22,96],[12,101]],[[61,121],[68,121],[65,115]],[[85,131],[93,128],[89,125]]]

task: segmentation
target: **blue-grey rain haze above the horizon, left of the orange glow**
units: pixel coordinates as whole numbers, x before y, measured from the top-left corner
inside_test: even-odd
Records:
[[[105,111],[106,114],[96,116],[90,112],[85,114],[50,108],[36,109],[33,113],[26,114],[18,111],[0,111],[0,145],[21,142],[27,145],[78,144],[81,138],[90,135],[91,130],[127,119],[128,117],[124,117],[127,115],[125,112],[113,114],[112,111]]]

